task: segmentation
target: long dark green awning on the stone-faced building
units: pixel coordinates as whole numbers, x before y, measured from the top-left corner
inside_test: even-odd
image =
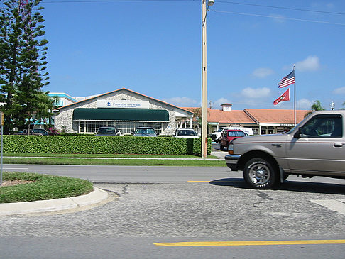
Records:
[[[168,122],[166,110],[122,109],[122,108],[76,108],[73,121],[155,121]]]

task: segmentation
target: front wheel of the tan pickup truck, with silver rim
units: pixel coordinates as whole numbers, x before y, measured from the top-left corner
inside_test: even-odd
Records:
[[[263,158],[252,158],[243,168],[244,180],[256,189],[270,189],[278,182],[273,165]]]

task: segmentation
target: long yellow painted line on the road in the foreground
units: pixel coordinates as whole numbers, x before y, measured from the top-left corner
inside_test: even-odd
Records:
[[[155,246],[279,246],[345,244],[345,239],[331,240],[287,240],[287,241],[199,241],[177,243],[154,243]]]

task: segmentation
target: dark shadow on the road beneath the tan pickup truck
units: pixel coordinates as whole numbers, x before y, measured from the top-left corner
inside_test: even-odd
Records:
[[[231,186],[241,189],[252,189],[241,178],[224,178],[209,182],[213,185]],[[275,190],[283,190],[288,192],[310,192],[310,193],[323,193],[323,194],[345,194],[344,184],[332,184],[322,182],[297,182],[285,181],[280,184]]]

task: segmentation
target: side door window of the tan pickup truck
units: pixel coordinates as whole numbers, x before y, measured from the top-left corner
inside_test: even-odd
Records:
[[[302,137],[341,138],[343,136],[342,117],[340,114],[314,116],[302,126],[301,133]]]

